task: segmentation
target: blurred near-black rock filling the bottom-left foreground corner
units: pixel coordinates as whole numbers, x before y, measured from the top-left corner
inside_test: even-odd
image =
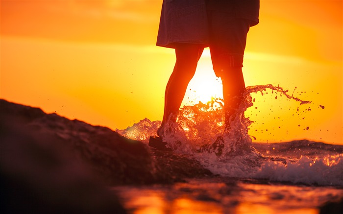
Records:
[[[2,113],[1,213],[126,213],[117,196],[62,140],[14,123]]]

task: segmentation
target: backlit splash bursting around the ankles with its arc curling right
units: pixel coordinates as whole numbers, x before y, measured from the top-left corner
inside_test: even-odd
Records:
[[[194,106],[184,106],[177,115],[176,123],[168,121],[165,126],[165,141],[178,152],[201,151],[216,153],[217,156],[232,156],[255,152],[251,147],[248,126],[253,122],[245,118],[245,110],[253,105],[252,93],[263,93],[271,89],[300,105],[311,103],[288,95],[281,87],[272,85],[250,86],[244,93],[235,115],[230,118],[230,131],[225,131],[224,103],[222,99],[212,98],[206,104],[199,102]]]

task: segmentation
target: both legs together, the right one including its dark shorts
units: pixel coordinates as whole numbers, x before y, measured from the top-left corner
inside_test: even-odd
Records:
[[[235,19],[232,14],[208,11],[210,51],[213,69],[223,84],[225,126],[243,98],[245,82],[242,72],[243,55],[249,22]],[[164,126],[171,115],[176,119],[177,111],[193,78],[203,48],[196,44],[176,44],[176,63],[169,78],[161,127],[157,135],[163,137]]]

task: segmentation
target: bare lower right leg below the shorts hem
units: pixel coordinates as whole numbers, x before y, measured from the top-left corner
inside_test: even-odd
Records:
[[[243,99],[245,90],[244,76],[241,67],[230,67],[221,75],[223,84],[225,128],[230,128],[229,119],[235,113]]]

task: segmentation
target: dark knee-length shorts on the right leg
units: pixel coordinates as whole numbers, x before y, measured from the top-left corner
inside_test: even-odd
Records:
[[[229,67],[243,67],[246,34],[250,21],[237,19],[234,13],[208,10],[210,51],[217,76]]]

